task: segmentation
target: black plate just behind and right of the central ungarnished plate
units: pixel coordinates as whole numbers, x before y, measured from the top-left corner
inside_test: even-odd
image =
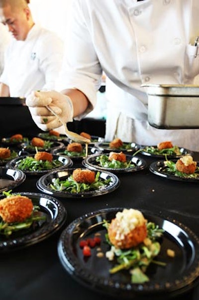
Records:
[[[109,154],[103,154],[109,156]],[[143,170],[147,167],[147,163],[144,159],[139,158],[137,156],[132,156],[132,155],[126,155],[126,160],[131,161],[134,163],[134,167],[129,167],[129,168],[104,168],[99,165],[99,162],[96,161],[96,158],[99,157],[100,155],[90,155],[87,158],[85,158],[82,162],[83,166],[92,169],[92,170],[106,170],[109,172],[113,173],[118,173],[118,172],[137,172],[140,170]]]

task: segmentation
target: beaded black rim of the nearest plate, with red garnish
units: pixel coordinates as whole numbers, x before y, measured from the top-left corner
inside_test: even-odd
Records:
[[[101,281],[99,282],[99,279],[100,277],[96,277],[96,280],[94,280],[94,282],[92,282],[92,285],[91,283],[89,282],[89,276],[91,276],[91,272],[87,269],[85,269],[83,266],[80,266],[80,271],[77,273],[77,271],[75,270],[75,268],[77,267],[78,265],[78,258],[75,257],[74,261],[72,262],[73,264],[71,264],[71,260],[67,260],[66,257],[64,257],[63,255],[65,255],[64,253],[64,239],[65,239],[65,236],[68,234],[69,237],[68,237],[68,240],[71,240],[72,237],[70,236],[73,232],[73,229],[75,229],[77,226],[80,225],[81,222],[85,221],[87,218],[91,218],[91,217],[95,217],[95,215],[99,215],[99,214],[102,214],[102,213],[106,213],[106,212],[117,212],[119,210],[123,210],[124,207],[117,207],[117,208],[105,208],[105,209],[101,209],[101,210],[97,210],[97,211],[94,211],[94,212],[90,212],[90,213],[87,213],[87,214],[84,214],[82,216],[80,216],[79,218],[77,218],[76,220],[74,220],[73,222],[71,222],[66,228],[65,230],[62,232],[60,238],[59,238],[59,241],[58,241],[58,246],[57,246],[57,251],[58,251],[58,256],[59,256],[59,259],[60,259],[60,262],[62,264],[62,266],[65,268],[65,270],[75,279],[77,280],[79,283],[85,285],[86,287],[89,287],[91,289],[94,289],[98,292],[101,292],[101,289],[105,287],[105,294],[107,295],[107,285],[108,285],[108,282],[106,282],[105,284],[104,283],[101,283]],[[177,225],[178,227],[180,227],[183,231],[185,231],[185,233],[189,233],[192,238],[194,239],[195,241],[195,244],[197,244],[197,248],[199,249],[199,238],[197,237],[197,235],[189,228],[187,227],[186,225],[182,224],[182,222],[179,222],[177,221],[176,219],[172,219],[170,217],[165,217],[165,216],[160,216],[160,215],[157,215],[157,214],[154,214],[152,211],[148,211],[148,210],[145,210],[145,209],[139,209],[144,215],[151,215],[153,217],[158,217],[159,219],[163,220],[163,221],[168,221],[168,222],[171,222],[175,225]],[[69,248],[68,248],[69,249]],[[196,253],[197,255],[197,253]],[[126,296],[128,299],[133,299],[133,296],[150,296],[150,295],[153,295],[153,296],[157,296],[159,295],[160,293],[162,292],[167,292],[167,296],[172,294],[173,293],[184,293],[185,290],[187,291],[187,289],[191,289],[193,288],[193,285],[196,284],[196,282],[198,283],[199,281],[199,253],[198,253],[198,266],[195,268],[195,278],[193,279],[192,278],[192,281],[190,282],[187,282],[185,285],[183,285],[182,283],[178,283],[178,286],[179,288],[178,289],[174,289],[173,287],[171,287],[170,285],[166,285],[167,281],[165,282],[165,287],[164,288],[160,288],[158,290],[155,290],[154,293],[152,291],[151,288],[149,288],[146,293],[145,291],[143,291],[143,286],[147,286],[148,284],[145,283],[145,284],[138,284],[138,285],[135,285],[135,284],[121,284],[120,288],[118,287],[118,284],[115,285],[115,286],[112,286],[112,283],[111,284],[111,288],[113,288],[114,291],[110,292],[109,293],[109,296],[117,296],[117,294],[119,292],[121,293],[126,293],[124,296]],[[85,271],[86,270],[86,271]],[[77,274],[76,274],[76,273]],[[85,273],[88,273],[88,282],[83,282],[84,279],[82,279],[83,276],[85,276]],[[87,275],[87,274],[86,274]],[[194,277],[193,275],[193,272],[191,273],[191,276]],[[95,277],[95,276],[94,276]],[[183,281],[185,282],[187,280],[187,277],[185,276],[185,278],[183,279]],[[149,282],[150,283],[150,282]],[[89,285],[90,286],[89,286]],[[154,282],[154,286],[155,286],[155,282]],[[175,284],[177,284],[175,282]],[[150,283],[151,285],[151,283]],[[125,286],[125,287],[124,287]],[[135,288],[136,287],[136,288]],[[157,288],[157,287],[156,287]],[[116,294],[115,294],[116,293]],[[135,295],[133,294],[135,293]],[[121,297],[121,295],[120,295]],[[125,298],[125,297],[124,297]],[[161,298],[162,299],[162,298]]]

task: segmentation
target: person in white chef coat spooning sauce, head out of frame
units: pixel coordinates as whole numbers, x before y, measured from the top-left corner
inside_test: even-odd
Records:
[[[199,150],[198,129],[163,130],[149,125],[147,94],[140,87],[194,83],[199,74],[198,47],[193,45],[199,35],[198,16],[198,0],[74,1],[57,85],[61,93],[28,97],[34,121],[42,130],[59,125],[46,104],[54,106],[66,122],[84,117],[96,104],[104,71],[108,78],[106,140],[119,137],[143,145],[170,140]]]

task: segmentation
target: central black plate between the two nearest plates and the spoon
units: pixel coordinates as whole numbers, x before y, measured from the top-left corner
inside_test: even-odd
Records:
[[[111,193],[119,187],[120,181],[118,177],[110,172],[100,171],[100,179],[106,180],[111,178],[111,181],[108,186],[104,188],[100,188],[95,191],[86,191],[81,193],[70,193],[67,191],[55,191],[51,189],[50,184],[52,184],[52,180],[59,178],[60,180],[67,180],[67,178],[73,173],[75,169],[64,169],[62,171],[53,171],[51,173],[45,174],[39,178],[37,181],[37,188],[47,194],[64,197],[64,198],[89,198],[96,197],[100,195],[104,195],[107,193]],[[97,171],[95,171],[97,173]]]

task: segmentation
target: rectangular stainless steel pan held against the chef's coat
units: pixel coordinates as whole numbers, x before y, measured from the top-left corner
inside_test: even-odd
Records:
[[[199,85],[148,84],[148,121],[155,128],[199,128]]]

